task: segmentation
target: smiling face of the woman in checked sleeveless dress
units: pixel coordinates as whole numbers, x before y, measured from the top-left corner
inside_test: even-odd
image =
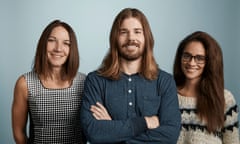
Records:
[[[62,27],[55,27],[47,41],[47,58],[52,67],[61,67],[67,60],[70,51],[70,37],[68,31]]]

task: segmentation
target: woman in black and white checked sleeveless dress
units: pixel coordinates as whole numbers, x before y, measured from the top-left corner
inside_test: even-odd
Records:
[[[79,113],[85,74],[78,68],[74,31],[54,20],[41,34],[32,71],[15,85],[12,127],[17,144],[84,143]]]

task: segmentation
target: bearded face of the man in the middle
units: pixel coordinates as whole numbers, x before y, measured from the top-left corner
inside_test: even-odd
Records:
[[[138,19],[131,17],[123,20],[120,27],[118,46],[120,56],[123,59],[133,61],[142,58],[145,38],[142,24]]]

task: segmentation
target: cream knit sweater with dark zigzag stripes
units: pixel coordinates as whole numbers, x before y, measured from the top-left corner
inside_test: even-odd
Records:
[[[196,99],[178,94],[182,128],[177,144],[239,144],[238,106],[230,91],[224,90],[224,128],[208,133],[206,123],[196,115]]]

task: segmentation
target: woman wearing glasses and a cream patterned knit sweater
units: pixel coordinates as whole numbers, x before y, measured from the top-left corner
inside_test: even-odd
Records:
[[[209,34],[183,39],[174,62],[182,128],[178,144],[238,144],[238,108],[224,89],[223,57]]]

